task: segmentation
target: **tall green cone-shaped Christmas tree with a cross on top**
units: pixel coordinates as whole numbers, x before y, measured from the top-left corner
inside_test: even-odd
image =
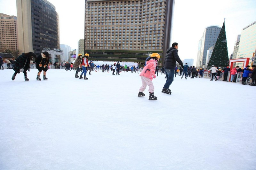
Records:
[[[212,67],[212,65],[226,67],[228,66],[228,62],[228,46],[224,21],[223,26],[220,30],[220,34],[212,51],[212,56],[210,58],[207,68]]]

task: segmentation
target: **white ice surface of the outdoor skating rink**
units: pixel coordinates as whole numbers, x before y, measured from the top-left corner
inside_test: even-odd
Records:
[[[0,70],[1,170],[256,169],[254,86],[179,76],[168,95],[160,73],[148,100],[138,73],[13,73]]]

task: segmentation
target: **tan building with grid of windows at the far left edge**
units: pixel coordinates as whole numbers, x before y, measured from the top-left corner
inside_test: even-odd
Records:
[[[17,17],[0,13],[1,50],[18,50]]]

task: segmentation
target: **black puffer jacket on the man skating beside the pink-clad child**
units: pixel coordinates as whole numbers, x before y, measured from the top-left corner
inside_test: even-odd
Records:
[[[166,51],[164,58],[164,69],[175,69],[176,61],[180,64],[180,66],[183,66],[183,63],[178,55],[178,50],[174,47],[170,47]]]

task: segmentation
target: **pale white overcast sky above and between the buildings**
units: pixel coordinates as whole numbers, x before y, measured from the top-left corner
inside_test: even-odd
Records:
[[[84,0],[49,0],[60,17],[60,44],[77,49],[84,38]],[[15,15],[16,0],[0,0],[0,13]],[[224,18],[228,42],[228,57],[233,52],[237,35],[256,20],[255,0],[176,0],[174,5],[172,42],[179,43],[181,59],[193,58],[196,65],[198,42],[204,28],[222,27]]]

